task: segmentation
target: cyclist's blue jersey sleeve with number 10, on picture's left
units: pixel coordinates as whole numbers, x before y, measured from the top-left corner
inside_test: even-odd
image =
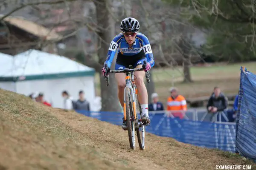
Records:
[[[111,67],[111,63],[113,61],[113,58],[115,57],[116,50],[119,47],[119,43],[122,39],[122,34],[116,35],[116,37],[113,38],[113,40],[110,43],[110,46],[108,48],[108,54],[107,54],[107,59],[104,62],[104,65],[107,64],[108,67]]]

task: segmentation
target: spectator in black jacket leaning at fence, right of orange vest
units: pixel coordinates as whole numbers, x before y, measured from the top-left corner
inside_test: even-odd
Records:
[[[210,113],[218,113],[224,111],[227,108],[227,99],[224,94],[221,93],[221,89],[218,87],[214,88],[213,94],[210,96],[207,104],[207,111]],[[212,120],[214,114],[212,115]]]

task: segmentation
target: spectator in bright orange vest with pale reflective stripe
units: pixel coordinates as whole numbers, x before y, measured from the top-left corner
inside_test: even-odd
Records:
[[[174,117],[183,119],[187,110],[186,99],[178,94],[177,88],[170,88],[169,92],[171,95],[168,98],[167,111],[171,111]]]

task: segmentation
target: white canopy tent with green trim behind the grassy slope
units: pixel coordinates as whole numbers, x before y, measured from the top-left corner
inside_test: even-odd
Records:
[[[0,88],[25,95],[42,92],[44,99],[55,108],[64,107],[61,96],[64,90],[74,99],[78,99],[80,90],[84,91],[89,102],[95,99],[93,68],[38,50],[28,50],[7,58],[0,67]],[[93,110],[93,102],[90,103]]]

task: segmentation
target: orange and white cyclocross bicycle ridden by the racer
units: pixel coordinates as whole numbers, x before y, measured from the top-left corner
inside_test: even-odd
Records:
[[[137,132],[138,143],[141,150],[145,149],[145,125],[141,121],[142,118],[142,109],[140,108],[140,103],[137,99],[137,87],[134,82],[134,71],[144,71],[146,61],[143,63],[143,68],[132,68],[129,65],[129,68],[123,70],[110,70],[108,73],[125,73],[125,90],[124,90],[124,118],[127,124],[128,137],[130,142],[130,147],[135,149],[135,131]],[[107,65],[105,65],[105,68]],[[146,80],[149,83],[149,73],[146,72]],[[109,86],[109,76],[105,76],[106,84]],[[137,105],[139,107],[137,107]],[[140,113],[140,118],[138,117]]]

